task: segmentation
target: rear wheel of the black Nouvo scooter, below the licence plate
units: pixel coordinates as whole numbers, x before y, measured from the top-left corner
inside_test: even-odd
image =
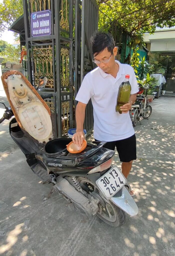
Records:
[[[113,204],[113,202],[110,200],[107,200],[95,187],[95,184],[87,177],[77,177],[77,180],[79,181],[83,190],[85,190],[87,193],[93,191],[98,193],[105,202],[105,207],[99,203],[99,211],[96,213],[101,220],[113,227],[121,227],[124,225],[126,221],[126,213],[122,209]]]

